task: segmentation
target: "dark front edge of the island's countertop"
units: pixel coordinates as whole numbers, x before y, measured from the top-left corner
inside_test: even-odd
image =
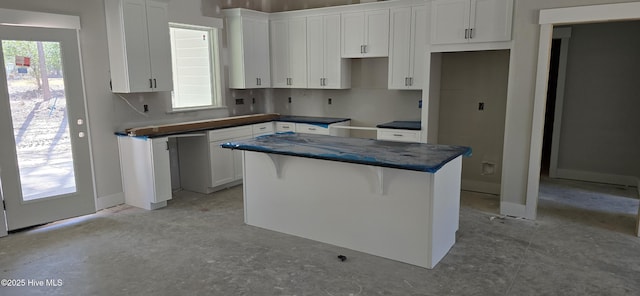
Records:
[[[239,146],[236,146],[236,145],[232,145],[230,142],[223,143],[220,146],[222,148],[227,148],[227,149],[236,149],[236,150],[243,150],[243,151],[262,152],[262,153],[271,153],[271,154],[286,155],[286,156],[296,156],[296,157],[311,158],[311,159],[346,162],[346,163],[353,163],[353,164],[362,164],[362,165],[370,165],[370,166],[377,166],[377,167],[386,167],[386,168],[401,169],[401,170],[408,170],[408,171],[416,171],[416,172],[423,172],[423,173],[432,173],[432,174],[436,173],[445,164],[447,164],[450,161],[454,160],[458,156],[463,156],[463,157],[471,156],[471,148],[468,148],[465,152],[454,154],[453,156],[445,159],[444,161],[440,162],[440,164],[435,165],[435,166],[399,165],[399,164],[388,163],[388,162],[368,161],[368,160],[362,160],[362,159],[354,160],[354,159],[347,159],[347,158],[331,157],[331,156],[326,156],[326,155],[294,153],[294,152],[286,152],[286,151],[273,151],[273,150],[266,149],[266,148],[263,149],[263,148],[257,147],[257,146],[239,147]]]

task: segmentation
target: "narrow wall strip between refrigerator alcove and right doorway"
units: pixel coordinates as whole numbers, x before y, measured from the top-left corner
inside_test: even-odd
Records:
[[[535,218],[526,211],[525,199],[537,69],[541,9],[635,1],[614,0],[516,0],[513,15],[509,88],[505,124],[501,213]],[[527,215],[526,213],[532,213]]]

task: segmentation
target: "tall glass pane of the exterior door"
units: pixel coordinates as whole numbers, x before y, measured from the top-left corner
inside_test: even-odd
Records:
[[[23,200],[76,192],[59,42],[2,40]]]

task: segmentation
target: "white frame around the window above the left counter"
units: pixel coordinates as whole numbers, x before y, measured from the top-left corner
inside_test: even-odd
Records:
[[[174,96],[175,92],[171,91],[168,102],[168,111],[167,113],[179,113],[179,112],[190,112],[190,111],[201,111],[201,110],[210,110],[210,109],[225,109],[227,106],[225,105],[225,100],[223,97],[222,91],[222,76],[221,76],[221,59],[220,59],[220,35],[221,28],[211,27],[211,26],[201,26],[201,25],[193,25],[186,23],[176,23],[169,22],[169,28],[178,28],[178,29],[187,29],[187,30],[200,30],[200,31],[208,31],[209,33],[209,62],[210,62],[210,78],[211,78],[211,104],[202,105],[202,106],[192,106],[192,107],[174,107]],[[173,50],[174,41],[171,39],[171,47]],[[171,65],[172,71],[173,65],[175,65],[176,61],[174,60],[173,54],[171,56]],[[173,79],[173,74],[172,74]],[[173,81],[174,87],[176,81]]]

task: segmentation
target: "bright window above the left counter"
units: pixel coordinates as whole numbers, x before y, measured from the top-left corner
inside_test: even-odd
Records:
[[[218,29],[170,24],[172,111],[221,107]]]

